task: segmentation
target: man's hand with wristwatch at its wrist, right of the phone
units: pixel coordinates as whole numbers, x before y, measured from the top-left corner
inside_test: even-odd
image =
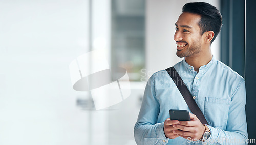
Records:
[[[185,139],[196,141],[202,138],[205,127],[196,115],[191,113],[189,115],[191,121],[179,121],[179,124],[173,125],[173,133]]]

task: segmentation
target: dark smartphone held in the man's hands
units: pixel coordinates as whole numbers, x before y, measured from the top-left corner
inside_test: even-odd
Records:
[[[169,110],[170,120],[190,121],[188,110]]]

